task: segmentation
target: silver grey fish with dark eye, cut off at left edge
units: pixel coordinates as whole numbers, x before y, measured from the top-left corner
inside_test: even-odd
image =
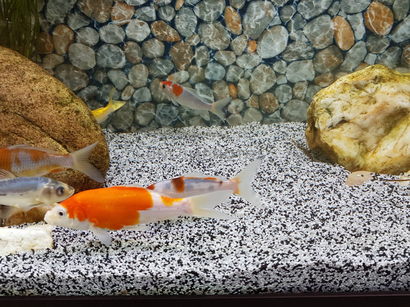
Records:
[[[66,183],[45,177],[18,178],[0,169],[0,220],[17,211],[64,201],[74,194]]]

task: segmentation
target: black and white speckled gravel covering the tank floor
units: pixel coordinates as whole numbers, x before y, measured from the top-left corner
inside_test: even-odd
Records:
[[[112,232],[108,248],[90,232],[55,228],[53,248],[0,257],[0,295],[409,290],[408,187],[385,175],[345,186],[343,167],[313,162],[291,142],[306,147],[304,130],[289,122],[106,132],[107,186],[188,172],[232,178],[253,151],[262,156],[253,186],[265,208],[232,195],[217,208],[236,220],[180,218],[145,233]],[[232,158],[239,149],[248,156]]]

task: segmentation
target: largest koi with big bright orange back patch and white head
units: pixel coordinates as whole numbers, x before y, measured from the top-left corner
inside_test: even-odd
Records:
[[[235,219],[214,208],[228,200],[232,191],[219,191],[187,198],[169,198],[140,185],[122,185],[77,193],[56,205],[44,217],[50,225],[91,230],[105,245],[108,230],[149,230],[139,225],[186,217]]]

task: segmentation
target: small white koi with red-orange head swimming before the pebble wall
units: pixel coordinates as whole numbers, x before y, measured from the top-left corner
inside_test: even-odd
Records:
[[[209,104],[205,102],[205,96],[196,93],[192,88],[185,88],[172,81],[162,81],[160,83],[162,91],[171,99],[175,106],[183,106],[188,111],[190,109],[202,111],[201,114],[207,115],[211,111],[217,115],[221,120],[225,120],[225,114],[222,112],[224,106],[230,102],[231,98],[223,98],[217,102]]]

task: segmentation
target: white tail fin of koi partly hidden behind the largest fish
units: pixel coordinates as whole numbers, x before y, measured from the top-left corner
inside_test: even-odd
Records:
[[[245,167],[245,169],[243,169],[235,178],[232,178],[231,181],[235,181],[237,184],[237,190],[234,194],[246,199],[256,208],[262,209],[262,201],[256,196],[256,193],[252,189],[252,181],[256,175],[260,163],[261,160],[256,159]]]

